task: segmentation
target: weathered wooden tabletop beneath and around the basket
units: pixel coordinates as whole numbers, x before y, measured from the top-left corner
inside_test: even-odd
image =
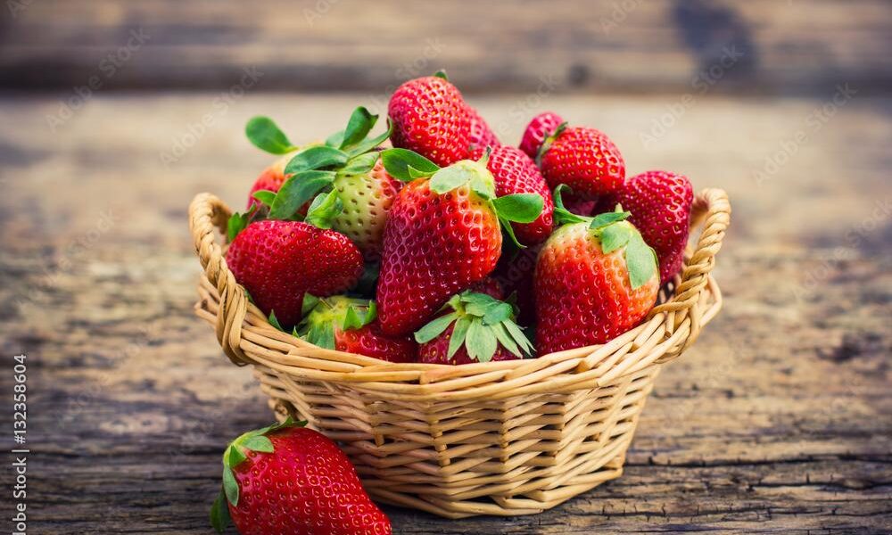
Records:
[[[0,99],[0,391],[27,353],[29,528],[210,533],[225,441],[270,415],[193,316],[186,206],[244,201],[268,161],[241,134],[251,115],[308,140],[369,95],[247,95],[225,112],[217,94],[100,95],[52,132],[66,96]],[[831,112],[831,97],[698,97],[663,134],[653,121],[679,97],[475,99],[508,140],[517,110],[554,109],[607,131],[631,172],[726,188],[726,304],[660,375],[622,478],[513,519],[387,508],[395,531],[892,530],[892,101]]]

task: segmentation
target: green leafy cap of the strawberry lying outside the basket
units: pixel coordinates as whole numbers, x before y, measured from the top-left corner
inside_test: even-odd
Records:
[[[223,487],[214,500],[214,505],[211,506],[211,526],[214,530],[222,533],[231,521],[227,502],[234,507],[238,506],[238,481],[235,480],[233,472],[235,466],[244,463],[248,459],[250,451],[273,453],[273,443],[272,440],[269,440],[268,433],[290,427],[303,427],[306,424],[306,422],[298,422],[288,416],[285,422],[277,422],[262,429],[246,432],[227,446],[223,452]]]

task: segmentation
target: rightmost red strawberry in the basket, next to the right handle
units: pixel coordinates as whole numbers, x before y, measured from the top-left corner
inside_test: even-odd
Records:
[[[647,171],[626,180],[612,200],[632,212],[629,221],[657,251],[660,284],[664,284],[681,270],[684,261],[694,201],[690,180],[667,171]]]

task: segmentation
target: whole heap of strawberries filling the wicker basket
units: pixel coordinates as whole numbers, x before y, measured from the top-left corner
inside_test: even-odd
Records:
[[[305,146],[249,122],[282,157],[230,218],[227,265],[277,328],[392,362],[529,358],[638,325],[681,269],[689,180],[626,177],[599,130],[546,112],[501,144],[442,73],[388,115]]]

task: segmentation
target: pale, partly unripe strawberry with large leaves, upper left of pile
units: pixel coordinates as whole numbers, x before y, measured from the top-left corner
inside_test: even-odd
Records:
[[[376,120],[376,115],[360,106],[346,128],[325,144],[299,149],[271,119],[251,119],[245,131],[253,144],[268,152],[287,153],[253,185],[252,201],[260,206],[249,211],[252,218],[265,211],[274,218],[303,218],[314,198],[334,192],[317,217],[324,215],[331,228],[347,235],[366,259],[377,259],[387,212],[401,182],[387,174],[376,150],[389,131],[368,136]]]

